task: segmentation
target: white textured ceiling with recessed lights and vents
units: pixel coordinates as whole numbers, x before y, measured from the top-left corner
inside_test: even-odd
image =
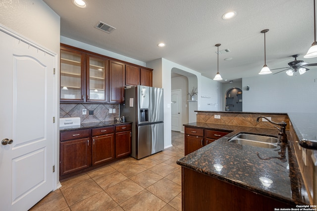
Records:
[[[148,62],[165,58],[213,78],[235,80],[256,76],[266,64],[287,67],[293,54],[303,59],[314,42],[313,0],[44,0],[61,17],[61,36]],[[234,10],[236,17],[223,20]],[[116,28],[111,34],[94,28],[99,22]],[[157,44],[165,42],[164,48]],[[232,60],[225,61],[225,58]],[[311,71],[315,67],[310,67]],[[278,70],[273,71],[273,73]],[[285,77],[288,77],[285,73]],[[265,77],[265,76],[263,76]]]

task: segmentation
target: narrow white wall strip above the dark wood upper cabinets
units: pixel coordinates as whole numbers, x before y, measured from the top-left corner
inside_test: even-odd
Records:
[[[63,37],[63,36],[60,36],[60,42],[64,43],[64,44],[68,44],[68,45],[74,46],[74,47],[78,47],[78,48],[81,48],[81,49],[84,49],[84,50],[92,51],[94,53],[99,53],[99,54],[104,55],[104,56],[109,56],[111,58],[119,59],[119,60],[122,60],[122,61],[125,61],[125,62],[129,62],[129,63],[132,63],[132,64],[137,64],[137,65],[146,67],[146,63],[145,62],[142,62],[142,61],[139,61],[139,60],[127,57],[127,56],[123,56],[123,55],[120,55],[118,53],[114,53],[114,52],[108,51],[106,49],[103,49],[103,48],[100,48],[100,47],[96,47],[94,45],[90,45],[90,44],[87,44],[87,43],[84,43],[84,42],[79,42],[79,41],[76,41],[76,40],[73,40],[73,39],[70,39],[70,38],[66,38],[66,37]]]

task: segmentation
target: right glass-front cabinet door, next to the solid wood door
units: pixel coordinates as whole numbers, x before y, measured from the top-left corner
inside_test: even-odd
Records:
[[[107,101],[107,60],[87,55],[87,101]]]

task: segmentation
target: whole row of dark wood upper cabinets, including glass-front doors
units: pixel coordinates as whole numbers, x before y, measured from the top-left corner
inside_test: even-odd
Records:
[[[124,86],[152,86],[152,71],[61,43],[60,101],[123,103]]]

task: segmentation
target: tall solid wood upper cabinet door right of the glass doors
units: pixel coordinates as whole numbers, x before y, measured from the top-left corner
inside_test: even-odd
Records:
[[[109,60],[109,102],[124,101],[125,69],[124,64]]]

